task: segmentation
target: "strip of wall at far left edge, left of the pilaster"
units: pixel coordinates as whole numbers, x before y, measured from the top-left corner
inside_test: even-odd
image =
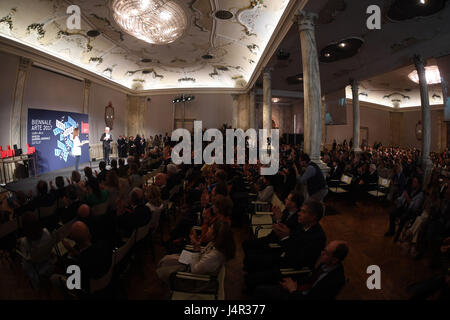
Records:
[[[11,108],[18,63],[17,56],[0,52],[0,70],[2,70],[0,77],[0,145],[3,150],[6,150],[6,146],[10,143]]]

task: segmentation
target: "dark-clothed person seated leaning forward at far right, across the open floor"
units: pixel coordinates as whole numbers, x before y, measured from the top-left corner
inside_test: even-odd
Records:
[[[395,234],[394,241],[398,240],[404,225],[410,219],[415,219],[422,210],[424,194],[420,188],[419,178],[413,177],[411,186],[403,191],[402,195],[397,198],[395,208],[389,214],[389,230],[385,236],[390,237]],[[397,232],[395,232],[395,220],[399,218]]]

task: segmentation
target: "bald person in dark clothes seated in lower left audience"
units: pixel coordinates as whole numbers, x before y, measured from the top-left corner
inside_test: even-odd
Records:
[[[85,223],[77,221],[72,225],[70,239],[75,241],[72,247],[67,240],[63,245],[69,252],[70,264],[76,264],[81,271],[81,289],[90,292],[90,279],[99,279],[104,276],[112,263],[111,247],[104,241],[93,243],[91,233]]]

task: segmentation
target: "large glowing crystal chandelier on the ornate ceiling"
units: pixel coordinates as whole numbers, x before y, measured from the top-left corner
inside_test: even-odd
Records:
[[[187,27],[184,10],[170,0],[113,0],[114,20],[128,34],[153,44],[177,40]]]

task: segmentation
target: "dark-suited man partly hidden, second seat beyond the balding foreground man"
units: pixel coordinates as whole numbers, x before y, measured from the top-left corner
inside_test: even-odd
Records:
[[[298,210],[303,205],[303,196],[298,193],[290,193],[289,196],[285,200],[286,208],[283,212],[280,211],[280,208],[273,207],[273,218],[274,223],[279,224],[282,223],[286,225],[291,231],[293,231],[298,226]],[[278,238],[275,231],[272,231],[269,235],[245,241],[242,244],[245,254],[250,254],[251,252],[261,252],[262,250],[267,250],[267,246],[269,243],[279,243],[280,238]]]

